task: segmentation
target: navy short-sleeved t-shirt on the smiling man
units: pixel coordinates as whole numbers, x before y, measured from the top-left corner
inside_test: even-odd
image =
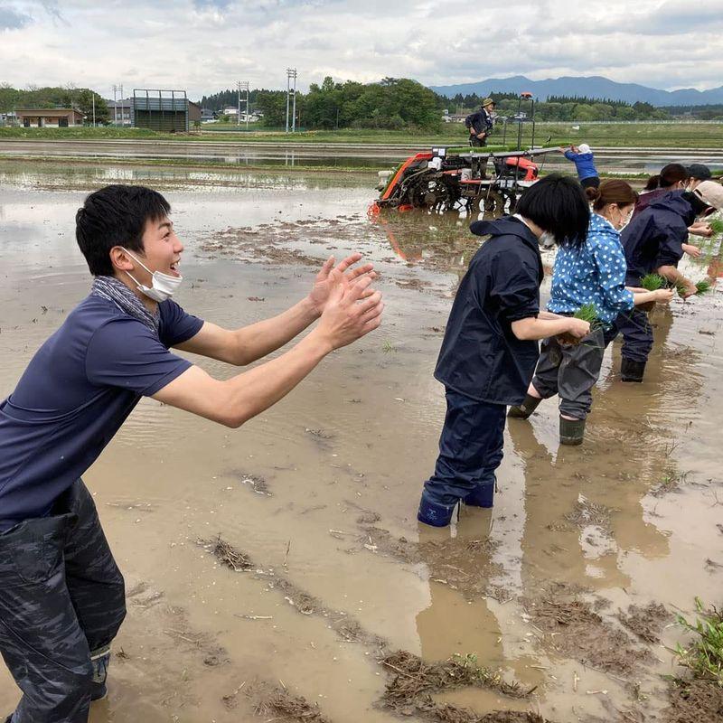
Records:
[[[158,309],[160,341],[112,301],[88,296],[35,353],[0,403],[0,531],[47,514],[138,400],[192,366],[168,349],[202,319],[170,300]]]

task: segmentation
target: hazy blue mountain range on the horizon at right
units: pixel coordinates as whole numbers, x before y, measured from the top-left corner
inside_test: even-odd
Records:
[[[625,100],[628,103],[639,100],[653,106],[705,106],[723,103],[723,86],[709,90],[661,90],[637,83],[616,83],[615,80],[599,75],[565,76],[547,80],[530,80],[523,75],[515,75],[512,78],[489,78],[476,83],[431,86],[431,89],[447,98],[453,98],[457,93],[462,93],[463,96],[472,93],[484,96],[488,93],[531,92],[539,100],[547,100],[549,96],[587,96]]]

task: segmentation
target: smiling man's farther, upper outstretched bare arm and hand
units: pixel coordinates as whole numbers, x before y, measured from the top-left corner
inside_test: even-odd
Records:
[[[347,272],[361,258],[362,254],[352,254],[344,258],[335,271],[346,273],[347,280],[352,284],[365,275],[371,274],[373,277],[371,264],[363,264]],[[234,331],[205,322],[198,333],[188,341],[177,344],[176,348],[237,366],[256,362],[290,342],[319,318],[333,291],[333,278],[336,275],[332,276],[332,272],[333,257],[330,257],[317,274],[309,295],[282,314]]]

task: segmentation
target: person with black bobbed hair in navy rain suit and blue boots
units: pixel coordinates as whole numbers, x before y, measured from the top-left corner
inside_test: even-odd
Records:
[[[435,370],[445,385],[446,418],[418,521],[446,527],[457,502],[493,506],[507,406],[524,399],[538,340],[590,331],[582,319],[540,312],[540,243],[552,236],[578,246],[589,220],[580,184],[550,174],[522,193],[514,216],[470,226],[491,238],[474,254],[446,324]]]

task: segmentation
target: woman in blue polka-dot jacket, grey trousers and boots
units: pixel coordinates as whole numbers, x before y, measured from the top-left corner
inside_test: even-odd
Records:
[[[577,344],[557,336],[545,339],[527,396],[507,415],[527,419],[542,399],[559,395],[559,441],[563,445],[582,444],[585,436],[592,389],[605,355],[603,327],[634,305],[669,302],[673,296],[671,289],[634,293],[625,287],[627,265],[619,231],[629,221],[638,198],[630,184],[603,181],[599,188],[587,188],[587,197],[594,211],[587,238],[577,247],[563,244],[558,250],[548,311],[573,315],[581,306],[592,304],[601,325]]]

